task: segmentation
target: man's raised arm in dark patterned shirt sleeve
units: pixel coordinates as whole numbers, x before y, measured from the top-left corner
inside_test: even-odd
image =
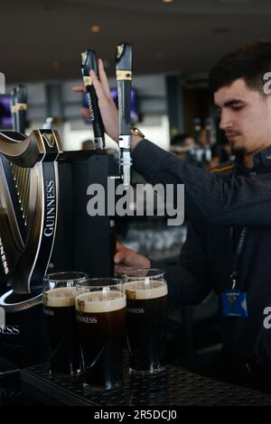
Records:
[[[271,224],[271,173],[222,180],[147,140],[136,145],[132,159],[135,170],[152,184],[184,184],[189,217],[230,226]]]

